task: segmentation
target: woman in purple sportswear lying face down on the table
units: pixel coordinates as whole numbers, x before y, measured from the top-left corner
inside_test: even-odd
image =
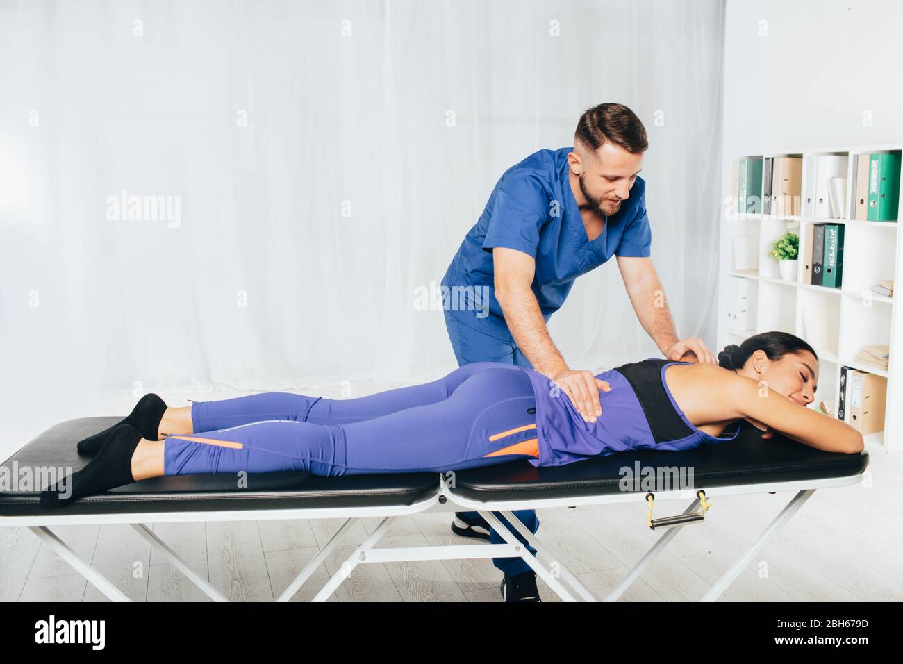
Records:
[[[818,358],[802,339],[764,332],[718,360],[716,367],[649,358],[604,371],[598,378],[610,389],[592,421],[542,374],[498,362],[354,399],[269,392],[167,407],[146,395],[122,422],[79,443],[95,458],[41,501],[62,505],[148,477],[199,472],[442,472],[517,459],[561,465],[728,442],[742,419],[764,438],[774,429],[828,452],[863,448],[852,426],[805,407]]]

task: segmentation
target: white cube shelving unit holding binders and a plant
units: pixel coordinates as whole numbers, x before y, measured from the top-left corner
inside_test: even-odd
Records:
[[[903,309],[898,289],[903,285],[903,239],[897,221],[863,221],[854,219],[856,193],[855,155],[903,151],[899,145],[847,145],[771,154],[738,155],[726,164],[725,181],[729,191],[724,196],[721,214],[721,258],[719,279],[718,349],[729,343],[740,344],[759,332],[782,330],[808,341],[818,353],[820,376],[814,406],[820,401],[837,413],[840,393],[841,367],[861,369],[888,379],[887,407],[884,431],[866,435],[866,444],[881,444],[888,452],[903,450]],[[822,154],[840,154],[847,158],[847,205],[842,219],[823,219],[805,216],[746,214],[738,212],[736,173],[741,157],[799,156],[803,158],[802,192],[799,210],[804,210],[807,196],[807,169],[814,158]],[[903,179],[903,178],[901,178]],[[903,182],[901,182],[903,184]],[[903,192],[903,190],[901,190]],[[903,210],[901,198],[900,210]],[[898,211],[899,214],[899,211]],[[832,288],[804,284],[804,258],[811,252],[805,247],[805,225],[813,223],[844,224],[842,286]],[[768,256],[771,242],[791,230],[799,235],[800,247],[795,281],[781,278],[777,259]],[[751,243],[755,257],[752,265],[737,269],[734,252],[735,238],[755,238]],[[749,325],[745,331],[733,331],[728,325],[728,312],[733,306],[733,279],[744,279],[749,288]],[[879,279],[894,280],[894,295],[886,297],[871,291]],[[753,314],[752,309],[755,308]],[[816,311],[828,321],[816,331],[805,330],[804,310],[811,316]],[[810,318],[811,320],[811,318]],[[890,347],[888,369],[864,364],[853,357],[863,344],[884,344]]]

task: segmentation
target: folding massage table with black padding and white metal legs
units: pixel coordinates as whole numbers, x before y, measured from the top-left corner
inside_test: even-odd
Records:
[[[69,468],[77,471],[90,460],[76,451],[80,439],[118,422],[119,417],[83,417],[51,427],[3,463],[15,468]],[[54,526],[128,524],[152,547],[187,576],[200,590],[218,602],[228,601],[220,591],[191,570],[163,539],[145,524],[265,519],[345,519],[329,542],[313,557],[277,601],[293,597],[304,582],[339,544],[357,519],[378,517],[377,528],[364,538],[333,574],[314,601],[325,601],[358,565],[408,560],[467,558],[522,558],[536,575],[564,601],[596,601],[596,597],[561,561],[555,560],[541,537],[529,532],[515,510],[645,503],[647,513],[661,510],[659,500],[690,500],[682,514],[647,519],[654,529],[664,528],[624,580],[605,597],[617,600],[661,553],[678,530],[704,528],[708,500],[720,496],[788,492],[790,500],[751,545],[703,596],[712,602],[724,592],[768,541],[783,528],[816,489],[851,486],[861,482],[869,463],[866,452],[831,454],[743,423],[737,438],[724,444],[705,444],[685,452],[641,450],[613,454],[564,466],[535,468],[526,461],[504,463],[447,473],[404,473],[316,477],[303,472],[270,472],[247,475],[247,488],[239,488],[234,474],[182,475],[134,482],[112,491],[75,500],[57,510],[44,510],[38,491],[0,483],[0,526],[29,528],[70,566],[114,601],[128,601],[116,585],[99,574],[58,538]],[[651,483],[622,483],[624,468],[693,469],[693,484],[674,482],[667,472],[647,478]],[[2,471],[0,471],[2,472]],[[8,477],[7,477],[8,479]],[[640,478],[641,479],[641,478]],[[684,475],[684,480],[689,480]],[[40,491],[39,487],[38,490]],[[12,491],[18,489],[19,491]],[[702,491],[702,492],[701,492]],[[703,509],[697,510],[702,507]],[[376,548],[393,519],[421,512],[476,510],[496,528],[505,544],[466,544],[437,547]],[[493,512],[500,512],[507,528]],[[698,524],[693,525],[691,524]],[[517,530],[536,549],[523,546]],[[542,530],[540,530],[542,532]],[[545,562],[544,562],[545,560]]]

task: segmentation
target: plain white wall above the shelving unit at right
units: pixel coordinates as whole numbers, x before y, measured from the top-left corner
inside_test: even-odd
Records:
[[[903,4],[728,0],[726,10],[724,195],[731,161],[742,154],[903,140]],[[730,260],[722,237],[721,274]]]

